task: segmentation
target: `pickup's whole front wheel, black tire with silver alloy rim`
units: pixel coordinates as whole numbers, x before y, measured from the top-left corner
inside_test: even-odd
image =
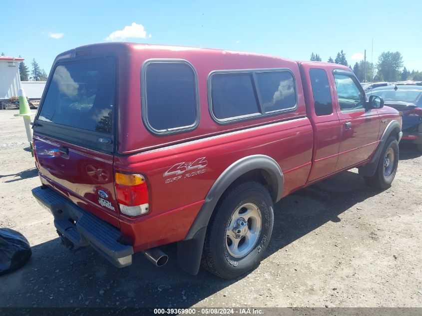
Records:
[[[384,145],[374,176],[365,177],[365,182],[376,189],[387,189],[396,176],[398,166],[399,143],[396,137],[391,136]]]

